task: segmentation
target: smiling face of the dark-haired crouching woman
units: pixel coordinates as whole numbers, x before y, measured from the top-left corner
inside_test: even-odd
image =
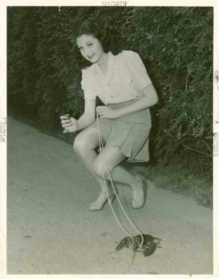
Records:
[[[81,35],[76,43],[81,55],[92,63],[96,63],[103,54],[101,43],[92,35]]]

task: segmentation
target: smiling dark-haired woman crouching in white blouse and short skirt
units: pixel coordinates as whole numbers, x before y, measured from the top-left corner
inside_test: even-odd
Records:
[[[64,132],[82,130],[74,141],[74,151],[94,175],[100,194],[89,210],[101,210],[107,202],[103,180],[109,180],[108,165],[113,181],[125,183],[132,190],[132,208],[144,205],[143,183],[121,166],[120,162],[149,161],[148,141],[151,127],[149,107],[158,102],[156,91],[147,75],[140,56],[133,51],[121,51],[115,37],[106,37],[97,24],[84,22],[76,39],[79,65],[82,67],[81,86],[85,107],[78,119],[61,116]],[[96,96],[105,104],[96,108]],[[97,120],[99,115],[101,136],[105,142],[101,161],[95,149],[99,146]],[[107,182],[109,196],[113,191]]]

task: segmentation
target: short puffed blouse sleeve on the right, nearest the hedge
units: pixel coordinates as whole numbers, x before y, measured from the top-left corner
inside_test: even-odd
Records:
[[[139,90],[142,90],[146,86],[152,84],[145,69],[145,65],[137,52],[131,50],[124,51],[124,58]]]

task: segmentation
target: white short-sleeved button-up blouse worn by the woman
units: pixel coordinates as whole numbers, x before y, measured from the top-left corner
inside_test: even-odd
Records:
[[[117,55],[109,52],[105,76],[97,63],[82,70],[84,98],[98,96],[105,105],[139,99],[143,97],[141,90],[151,83],[140,56],[131,50]]]

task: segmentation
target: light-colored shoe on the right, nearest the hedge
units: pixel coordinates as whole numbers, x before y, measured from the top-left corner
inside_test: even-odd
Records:
[[[133,209],[141,208],[145,203],[143,182],[139,176],[136,176],[136,178],[138,178],[138,184],[131,186]]]

